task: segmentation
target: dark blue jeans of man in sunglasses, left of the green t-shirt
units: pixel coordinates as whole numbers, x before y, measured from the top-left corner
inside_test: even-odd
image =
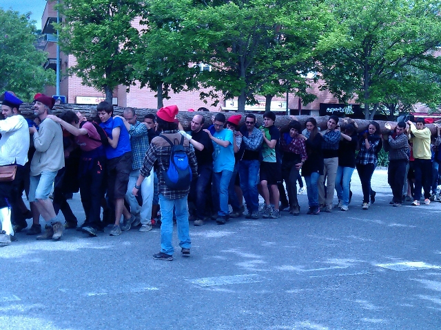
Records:
[[[242,189],[245,203],[247,203],[248,212],[259,209],[259,193],[257,190],[259,168],[260,163],[258,160],[239,161],[240,188]]]

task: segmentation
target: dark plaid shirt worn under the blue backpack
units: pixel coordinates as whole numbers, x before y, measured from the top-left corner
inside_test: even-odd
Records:
[[[163,135],[169,138],[170,141],[174,142],[178,139],[181,142],[182,135],[178,133],[177,130],[174,131],[163,131]],[[194,149],[190,148],[189,141],[184,138],[184,148],[188,155],[189,166],[192,168],[193,178],[198,176],[198,164],[196,162],[196,155],[194,155]],[[171,190],[167,187],[164,181],[163,171],[167,170],[170,165],[170,155],[172,153],[172,147],[170,144],[162,137],[154,137],[150,148],[147,149],[145,154],[143,166],[141,167],[141,175],[143,177],[148,177],[150,175],[150,170],[152,170],[154,162],[158,162],[160,168],[158,175],[158,191],[167,199],[178,199],[188,195],[190,187],[188,186],[185,190]]]

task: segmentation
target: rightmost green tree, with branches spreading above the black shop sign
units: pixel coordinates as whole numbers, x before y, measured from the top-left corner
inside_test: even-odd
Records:
[[[329,0],[345,41],[318,57],[318,72],[342,102],[356,98],[372,119],[380,104],[431,102],[433,81],[418,81],[420,72],[439,74],[440,3],[435,0]],[[430,75],[429,75],[430,76]],[[392,96],[392,98],[391,98]]]

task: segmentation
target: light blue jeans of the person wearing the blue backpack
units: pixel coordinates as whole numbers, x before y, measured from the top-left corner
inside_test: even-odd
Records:
[[[168,199],[159,194],[161,207],[161,252],[172,255],[174,252],[173,239],[173,209],[176,214],[179,246],[189,249],[192,247],[188,225],[187,196],[177,199]]]

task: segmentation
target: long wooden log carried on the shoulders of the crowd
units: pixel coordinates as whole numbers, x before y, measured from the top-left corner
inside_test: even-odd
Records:
[[[32,118],[33,111],[32,111],[32,103],[25,103],[25,104],[21,104],[20,106],[20,110],[21,113],[23,114],[23,116],[25,116],[26,118]],[[92,119],[92,118],[96,118],[96,105],[83,105],[83,104],[58,104],[55,105],[54,109],[53,109],[53,113],[55,115],[59,115],[60,113],[62,113],[65,110],[72,110],[74,112],[81,112],[83,113],[83,115],[85,115],[86,118],[88,119]],[[123,107],[114,107],[114,114],[115,115],[122,115],[124,111]],[[147,113],[153,113],[156,114],[156,109],[141,109],[141,108],[135,108],[136,114],[138,115],[138,120],[142,121],[144,118],[144,115],[146,115]],[[203,111],[198,111],[198,112],[187,112],[187,111],[180,111],[178,113],[178,115],[176,116],[176,118],[178,118],[179,122],[181,122],[183,128],[187,131],[189,131],[190,129],[190,123],[192,122],[192,118],[194,117],[194,115],[200,114],[203,115],[205,118],[205,124],[204,124],[204,128],[207,128],[209,125],[212,124],[212,116],[216,115],[216,112],[203,112]],[[231,115],[238,115],[238,114],[242,114],[242,119],[240,120],[240,124],[245,124],[245,113],[237,113],[237,112],[225,112],[225,117],[228,119],[229,116]],[[310,115],[297,115],[297,116],[293,116],[293,115],[278,115],[276,118],[276,126],[285,126],[287,124],[289,124],[289,122],[293,119],[298,120],[298,122],[300,122],[300,124],[302,124],[302,127],[305,128],[305,122],[308,118],[310,118]],[[263,123],[263,115],[258,115],[256,114],[256,118],[257,118],[257,123],[260,126]],[[314,117],[317,121],[317,125],[320,127],[320,129],[327,129],[327,121],[329,119],[329,116],[323,116],[323,117]],[[393,129],[397,122],[387,122],[387,121],[383,121],[383,120],[376,120],[376,122],[378,122],[378,124],[380,125],[380,129],[382,131],[382,133],[387,133],[387,131],[389,131],[389,127],[391,129]],[[362,132],[365,131],[365,129],[367,129],[367,126],[369,126],[369,120],[362,120],[362,119],[352,119],[352,118],[340,118],[339,119],[339,124],[340,126],[342,126],[342,128],[345,127],[345,125],[347,124],[354,124],[354,126],[357,127],[358,132]],[[431,133],[433,135],[435,135],[436,132],[436,127],[434,124],[427,124],[426,125],[430,130]]]

